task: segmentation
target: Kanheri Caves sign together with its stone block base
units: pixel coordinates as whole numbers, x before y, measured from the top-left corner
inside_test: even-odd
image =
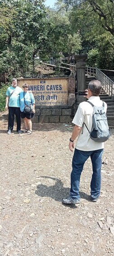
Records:
[[[29,85],[35,98],[35,115],[33,122],[71,122],[75,115],[75,87],[73,77],[21,78],[18,86]]]

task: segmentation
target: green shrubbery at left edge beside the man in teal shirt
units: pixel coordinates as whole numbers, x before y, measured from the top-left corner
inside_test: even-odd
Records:
[[[6,99],[5,93],[8,87],[9,86],[8,85],[6,86],[5,84],[2,84],[0,87],[0,111],[5,110],[5,99]]]

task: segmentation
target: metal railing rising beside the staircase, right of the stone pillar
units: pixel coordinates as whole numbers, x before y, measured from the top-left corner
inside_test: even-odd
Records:
[[[114,101],[114,82],[107,77],[99,68],[86,67],[85,74],[95,77],[102,84],[102,87],[106,93],[111,96]]]

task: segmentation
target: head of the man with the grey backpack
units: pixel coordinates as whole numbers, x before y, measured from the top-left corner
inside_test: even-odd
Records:
[[[102,89],[102,84],[98,80],[91,80],[89,82],[88,89],[90,89],[93,96],[99,96]]]

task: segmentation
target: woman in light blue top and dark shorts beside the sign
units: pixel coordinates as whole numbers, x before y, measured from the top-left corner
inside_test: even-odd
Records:
[[[32,134],[32,118],[35,113],[35,100],[33,97],[33,93],[28,92],[29,86],[25,83],[23,86],[24,92],[20,93],[20,111],[21,111],[21,118],[24,118],[24,124],[25,124],[25,130],[24,133],[27,133],[28,135]],[[32,112],[31,113],[25,113],[24,112],[24,106],[31,105]],[[29,130],[28,130],[29,127]]]

